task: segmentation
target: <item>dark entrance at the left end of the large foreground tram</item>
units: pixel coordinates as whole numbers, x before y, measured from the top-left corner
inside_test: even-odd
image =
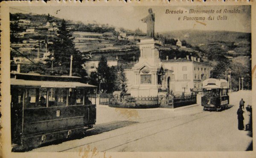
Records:
[[[19,140],[22,128],[23,89],[11,89],[11,135],[12,143]]]

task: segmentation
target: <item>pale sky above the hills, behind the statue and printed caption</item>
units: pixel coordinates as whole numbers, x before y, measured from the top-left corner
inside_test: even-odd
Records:
[[[15,8],[15,9],[13,9]],[[148,9],[152,8],[155,14],[155,32],[170,32],[177,30],[215,30],[251,32],[251,8],[250,6],[33,6],[12,7],[10,13],[50,14],[65,20],[81,21],[99,24],[108,24],[117,28],[146,32],[146,24],[140,20],[148,15]],[[19,9],[19,10],[17,10]],[[166,9],[183,11],[182,14],[166,14]],[[214,14],[189,14],[189,9],[214,10]],[[224,9],[236,10],[240,13],[224,14]],[[22,10],[22,11],[20,11]],[[58,11],[57,13],[57,10]],[[221,14],[216,11],[221,10]],[[186,12],[185,12],[186,11]],[[205,17],[205,20],[183,20],[184,17]],[[214,20],[207,18],[214,16]],[[217,20],[218,16],[226,16],[227,20]],[[178,18],[180,17],[180,20]]]

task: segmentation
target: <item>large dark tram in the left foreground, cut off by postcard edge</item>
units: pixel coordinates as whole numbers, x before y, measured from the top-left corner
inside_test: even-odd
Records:
[[[74,76],[11,73],[12,146],[35,148],[96,123],[96,86]]]

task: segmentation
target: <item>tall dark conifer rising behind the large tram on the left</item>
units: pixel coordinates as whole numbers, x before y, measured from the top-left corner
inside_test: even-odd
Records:
[[[62,20],[58,35],[53,39],[53,44],[49,46],[55,57],[53,62],[55,73],[68,75],[70,73],[70,57],[73,55],[72,75],[85,77],[87,73],[83,69],[82,64],[84,64],[86,60],[82,57],[81,53],[75,49],[72,34],[67,30],[66,25],[66,21]],[[47,66],[50,67],[51,64],[52,61],[49,61]]]

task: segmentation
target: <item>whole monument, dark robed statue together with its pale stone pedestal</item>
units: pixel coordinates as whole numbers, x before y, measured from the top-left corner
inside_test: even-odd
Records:
[[[131,86],[131,96],[158,96],[168,92],[167,78],[172,76],[172,70],[165,69],[159,58],[160,41],[154,39],[155,16],[152,9],[149,15],[142,19],[147,23],[147,39],[140,40],[139,62],[132,67],[134,84]]]

